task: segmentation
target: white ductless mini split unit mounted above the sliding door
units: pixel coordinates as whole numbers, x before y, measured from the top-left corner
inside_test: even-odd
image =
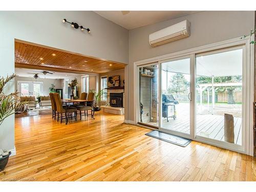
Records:
[[[188,20],[183,20],[183,22],[150,34],[150,45],[156,47],[167,44],[167,42],[175,41],[189,36],[190,22]]]

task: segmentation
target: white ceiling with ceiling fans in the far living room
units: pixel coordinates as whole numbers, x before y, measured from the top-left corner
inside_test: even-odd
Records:
[[[47,78],[47,79],[68,79],[74,76],[83,76],[86,74],[75,74],[75,73],[60,73],[60,72],[53,72],[49,71],[53,74],[42,74],[42,70],[35,70],[35,69],[24,69],[24,68],[15,68],[15,74],[19,77],[33,77],[34,74],[39,73],[38,76],[40,78]],[[32,73],[32,74],[31,74]]]

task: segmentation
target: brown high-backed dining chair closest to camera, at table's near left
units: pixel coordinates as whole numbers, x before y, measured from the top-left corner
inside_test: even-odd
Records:
[[[54,96],[54,100],[56,102],[57,113],[58,113],[57,121],[59,121],[59,114],[60,114],[60,117],[61,117],[60,123],[62,123],[62,118],[63,117],[65,117],[66,118],[66,122],[68,122],[69,115],[70,115],[70,113],[73,113],[73,112],[75,114],[75,119],[76,119],[76,117],[77,117],[77,109],[74,106],[63,107],[61,99],[60,99],[60,96],[59,96],[58,93],[54,93],[53,96]],[[65,114],[65,116],[63,116],[63,114]]]

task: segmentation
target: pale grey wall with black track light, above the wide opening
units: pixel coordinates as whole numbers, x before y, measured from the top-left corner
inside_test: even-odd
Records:
[[[71,28],[62,18],[91,29]],[[128,63],[128,30],[92,11],[0,11],[0,75],[14,73],[14,39]],[[14,84],[10,84],[14,91]],[[0,148],[14,149],[14,115],[0,126]]]

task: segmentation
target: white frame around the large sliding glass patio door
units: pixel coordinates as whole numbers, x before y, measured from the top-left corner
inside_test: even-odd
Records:
[[[176,53],[171,53],[171,54],[166,54],[166,55],[162,55],[162,56],[158,56],[158,57],[153,57],[153,58],[149,58],[149,59],[144,59],[144,60],[140,60],[140,61],[136,61],[134,62],[134,123],[141,126],[140,124],[138,124],[138,89],[139,89],[139,82],[138,82],[138,68],[142,65],[153,65],[153,63],[156,63],[156,62],[161,62],[163,60],[167,60],[167,59],[173,59],[173,58],[177,58],[177,57],[183,57],[183,56],[190,56],[190,80],[191,82],[195,82],[195,74],[191,74],[191,72],[195,72],[195,55],[196,54],[199,54],[199,53],[203,53],[203,52],[209,52],[209,51],[214,51],[214,50],[218,50],[218,49],[225,49],[225,48],[231,48],[231,47],[234,47],[234,46],[244,46],[244,50],[243,50],[243,59],[244,59],[244,62],[245,62],[245,66],[243,66],[243,70],[245,70],[243,72],[243,75],[244,75],[244,92],[246,93],[245,94],[245,100],[246,102],[244,102],[244,133],[242,136],[243,137],[243,147],[241,148],[234,148],[233,147],[233,144],[231,143],[226,143],[225,142],[225,146],[223,146],[222,144],[220,144],[219,141],[212,141],[212,140],[208,140],[203,138],[203,137],[200,137],[200,136],[196,136],[195,134],[195,116],[193,115],[190,115],[190,118],[193,118],[193,119],[190,119],[190,122],[192,125],[194,125],[194,138],[191,138],[190,136],[187,137],[186,134],[176,134],[176,135],[180,135],[180,136],[183,136],[183,137],[186,137],[186,138],[190,138],[190,139],[193,139],[193,140],[196,140],[196,141],[200,141],[200,142],[204,142],[204,143],[207,143],[207,144],[211,144],[211,145],[215,145],[215,146],[219,146],[219,147],[222,147],[222,148],[227,148],[228,150],[232,150],[232,151],[236,151],[236,152],[240,152],[240,153],[244,153],[244,154],[247,154],[247,155],[251,155],[253,156],[253,122],[252,122],[252,119],[253,119],[253,109],[252,109],[252,103],[253,103],[253,72],[254,72],[254,68],[253,68],[253,46],[250,45],[250,41],[253,40],[254,37],[253,35],[251,37],[246,37],[246,38],[243,38],[241,39],[240,37],[237,37],[237,38],[233,38],[233,39],[229,39],[229,40],[224,40],[224,41],[221,41],[221,42],[217,42],[217,43],[214,43],[214,44],[209,44],[209,45],[205,45],[205,46],[201,46],[201,47],[197,47],[197,48],[192,48],[192,49],[188,49],[188,50],[184,50],[184,51],[179,51],[179,52],[176,52]],[[192,62],[192,63],[191,63]],[[160,65],[161,66],[161,65]],[[160,70],[160,67],[159,66],[159,70]],[[160,73],[158,74],[159,75],[159,80],[161,80],[161,77],[160,77]],[[190,83],[191,83],[190,82]],[[193,86],[190,86],[190,87],[193,87],[192,91],[194,92],[193,93],[193,96],[194,96],[194,99],[192,99],[194,102],[195,102],[195,84],[193,84]],[[159,95],[160,96],[160,95]],[[159,99],[160,100],[160,99]],[[160,102],[160,101],[159,101]],[[195,103],[193,102],[190,102],[190,113],[192,114],[196,114],[195,113],[195,110],[196,108],[193,107],[191,108],[191,105],[194,104],[195,106]],[[161,104],[159,104],[159,106],[161,106]],[[159,110],[161,110],[161,107],[159,107]],[[159,111],[161,112],[161,111]],[[159,113],[159,117],[161,114]],[[191,126],[190,124],[190,126]],[[146,126],[145,126],[146,127]],[[246,127],[246,129],[245,129]],[[151,127],[147,127],[147,128],[150,128],[152,129]],[[190,127],[191,129],[191,127]],[[191,132],[191,130],[190,130]],[[247,141],[247,142],[245,142]],[[223,142],[223,141],[222,141]]]

